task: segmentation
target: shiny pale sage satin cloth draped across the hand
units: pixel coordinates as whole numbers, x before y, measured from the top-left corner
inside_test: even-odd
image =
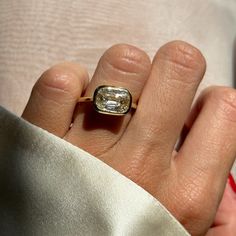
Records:
[[[0,235],[189,235],[154,197],[0,107]]]

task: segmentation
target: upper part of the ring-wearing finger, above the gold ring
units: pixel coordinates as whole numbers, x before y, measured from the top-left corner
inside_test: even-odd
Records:
[[[150,59],[141,49],[126,44],[115,45],[101,57],[85,96],[92,96],[100,85],[111,85],[127,88],[136,103],[150,68]]]

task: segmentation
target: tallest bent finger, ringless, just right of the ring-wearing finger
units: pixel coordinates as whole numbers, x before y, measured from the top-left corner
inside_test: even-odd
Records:
[[[204,72],[205,60],[196,48],[181,41],[164,45],[153,60],[125,142],[133,140],[129,145],[142,145],[155,156],[171,155]]]

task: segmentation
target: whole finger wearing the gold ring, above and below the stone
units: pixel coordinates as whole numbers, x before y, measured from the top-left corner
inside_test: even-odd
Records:
[[[132,94],[133,102],[136,102],[150,68],[150,59],[144,51],[130,45],[115,45],[101,57],[85,96],[92,96],[100,85],[111,85],[127,88]],[[75,122],[66,139],[100,156],[117,143],[131,114],[125,117],[102,115],[88,104],[79,105]]]

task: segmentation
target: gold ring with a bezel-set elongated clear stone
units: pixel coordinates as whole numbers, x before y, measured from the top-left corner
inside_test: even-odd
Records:
[[[102,114],[122,116],[137,104],[132,103],[132,95],[128,89],[102,85],[96,88],[93,97],[81,97],[81,102],[93,102],[94,109]]]

